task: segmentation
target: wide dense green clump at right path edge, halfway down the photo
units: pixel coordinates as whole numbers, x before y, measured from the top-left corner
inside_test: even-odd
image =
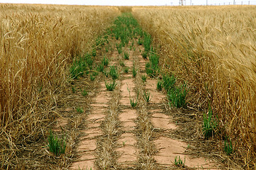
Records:
[[[167,91],[167,96],[169,102],[177,108],[187,108],[187,84],[169,89],[169,91]]]

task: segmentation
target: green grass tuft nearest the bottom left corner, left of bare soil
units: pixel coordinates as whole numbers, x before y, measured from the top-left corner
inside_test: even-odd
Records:
[[[48,137],[48,148],[49,151],[55,154],[55,156],[60,156],[60,154],[65,154],[66,142],[64,135],[62,135],[62,139],[60,140],[57,136],[55,136],[50,130],[50,135]]]

